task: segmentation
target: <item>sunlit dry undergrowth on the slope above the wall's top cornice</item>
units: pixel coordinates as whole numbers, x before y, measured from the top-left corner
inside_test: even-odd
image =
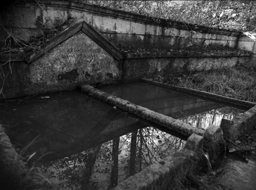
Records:
[[[256,31],[256,1],[125,1],[84,0],[148,17],[207,27]],[[156,19],[156,21],[158,21]]]

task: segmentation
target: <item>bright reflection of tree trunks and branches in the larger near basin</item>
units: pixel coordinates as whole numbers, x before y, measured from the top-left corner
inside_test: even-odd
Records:
[[[66,189],[108,189],[159,162],[185,141],[146,127],[42,165],[37,174]]]

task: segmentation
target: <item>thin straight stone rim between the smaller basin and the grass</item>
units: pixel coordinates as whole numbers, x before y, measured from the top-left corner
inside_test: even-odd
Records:
[[[199,91],[199,90],[190,89],[190,88],[173,86],[173,85],[170,85],[170,84],[165,84],[165,83],[161,83],[161,82],[157,82],[157,81],[152,81],[152,80],[149,80],[149,79],[146,79],[146,78],[141,78],[141,81],[145,82],[145,83],[150,83],[150,84],[154,84],[154,85],[157,85],[157,86],[161,86],[161,87],[164,87],[164,88],[168,88],[168,89],[171,89],[171,90],[174,90],[174,91],[185,92],[185,93],[188,93],[188,94],[196,95],[196,96],[199,96],[201,98],[213,99],[213,100],[217,100],[217,101],[225,101],[225,102],[227,102],[229,104],[232,104],[236,107],[237,106],[243,107],[245,110],[250,109],[250,108],[252,108],[256,105],[256,103],[249,102],[249,101],[229,98],[229,97],[226,97],[226,96],[213,94],[213,93],[205,92],[205,91]]]

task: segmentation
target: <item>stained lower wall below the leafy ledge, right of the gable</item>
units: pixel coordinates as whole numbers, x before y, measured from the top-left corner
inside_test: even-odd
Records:
[[[174,56],[173,54],[163,57],[151,57],[149,54],[141,56],[128,55],[123,66],[123,80],[134,81],[141,77],[152,78],[155,75],[170,77],[189,72],[234,67],[239,64],[246,64],[249,54],[222,55],[202,54],[194,56],[192,53]]]

